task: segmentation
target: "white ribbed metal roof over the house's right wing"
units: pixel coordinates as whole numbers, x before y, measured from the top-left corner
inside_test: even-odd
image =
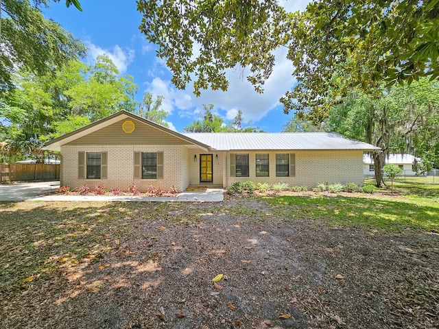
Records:
[[[218,151],[276,149],[379,149],[330,132],[194,132],[183,134]]]

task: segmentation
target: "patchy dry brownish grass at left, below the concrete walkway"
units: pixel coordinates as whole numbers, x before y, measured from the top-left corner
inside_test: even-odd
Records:
[[[35,280],[51,280],[54,272],[67,282],[80,280],[127,234],[165,208],[156,203],[141,208],[130,203],[1,203],[0,294],[12,297]]]

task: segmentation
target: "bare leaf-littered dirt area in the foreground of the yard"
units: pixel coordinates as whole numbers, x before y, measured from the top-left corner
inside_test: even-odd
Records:
[[[258,198],[130,207],[93,261],[47,254],[56,271],[3,291],[0,328],[439,328],[435,232],[285,219]]]

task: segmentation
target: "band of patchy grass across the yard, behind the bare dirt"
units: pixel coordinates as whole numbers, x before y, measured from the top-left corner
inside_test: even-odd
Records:
[[[382,193],[382,191],[381,191]],[[236,199],[236,202],[196,205],[111,202],[1,202],[0,294],[8,297],[29,282],[66,283],[89,264],[119,249],[144,223],[157,227],[187,226],[200,221],[316,221],[318,225],[349,226],[401,232],[407,228],[439,231],[439,184],[396,182],[395,193],[350,197],[296,195]],[[268,201],[268,206],[259,201]],[[158,224],[160,222],[161,224]],[[145,239],[158,236],[152,226]],[[58,279],[56,279],[58,278]],[[62,283],[64,282],[64,283]]]

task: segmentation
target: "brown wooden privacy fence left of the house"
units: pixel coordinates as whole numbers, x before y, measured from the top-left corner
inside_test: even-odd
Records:
[[[1,182],[59,180],[60,164],[0,163]]]

